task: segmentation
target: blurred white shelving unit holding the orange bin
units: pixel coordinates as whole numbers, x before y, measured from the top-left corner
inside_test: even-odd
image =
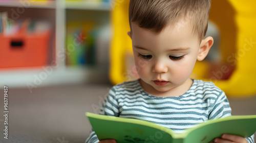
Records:
[[[50,21],[53,25],[48,65],[39,67],[13,67],[0,69],[0,88],[3,85],[11,87],[26,87],[54,84],[104,82],[108,80],[108,48],[110,38],[110,3],[73,2],[73,1],[0,1],[0,12],[11,14],[16,9],[24,10],[18,18],[36,18]],[[77,14],[77,15],[75,15]],[[66,65],[66,29],[67,22],[72,20],[84,21],[92,17],[97,23],[101,41],[97,44],[95,66]],[[102,58],[103,57],[103,58]]]

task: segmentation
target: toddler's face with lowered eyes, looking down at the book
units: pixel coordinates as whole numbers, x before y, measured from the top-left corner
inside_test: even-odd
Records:
[[[200,52],[200,42],[192,33],[190,23],[181,20],[159,34],[140,28],[134,22],[131,27],[132,35],[129,35],[135,65],[144,90],[152,94],[174,90],[186,92],[191,86],[189,76]]]

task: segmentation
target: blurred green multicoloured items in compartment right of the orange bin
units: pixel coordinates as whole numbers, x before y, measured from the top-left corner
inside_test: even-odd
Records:
[[[94,65],[97,35],[93,22],[67,23],[67,65]]]

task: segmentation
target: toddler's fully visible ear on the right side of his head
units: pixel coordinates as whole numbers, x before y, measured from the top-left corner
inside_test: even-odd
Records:
[[[207,56],[212,44],[214,44],[214,38],[210,36],[201,41],[197,60],[202,61]]]

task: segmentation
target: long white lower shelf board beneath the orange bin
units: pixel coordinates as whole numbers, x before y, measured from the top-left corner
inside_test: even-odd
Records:
[[[97,77],[96,79],[94,77]],[[11,87],[37,88],[39,86],[67,83],[86,83],[106,81],[106,71],[100,67],[33,67],[0,71],[0,88]]]

